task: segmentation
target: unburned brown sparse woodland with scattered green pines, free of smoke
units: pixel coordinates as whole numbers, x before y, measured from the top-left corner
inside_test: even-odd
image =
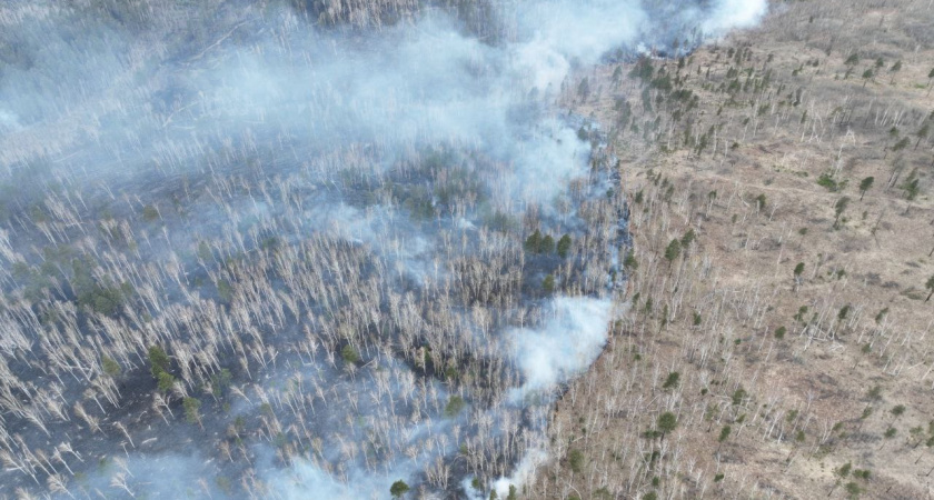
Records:
[[[926,1],[774,2],[567,86],[622,160],[628,312],[530,498],[930,498],[931,26]]]

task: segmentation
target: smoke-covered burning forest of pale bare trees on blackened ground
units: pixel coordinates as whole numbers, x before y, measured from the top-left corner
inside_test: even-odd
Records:
[[[0,494],[505,498],[625,286],[553,102],[738,3],[4,2]]]

